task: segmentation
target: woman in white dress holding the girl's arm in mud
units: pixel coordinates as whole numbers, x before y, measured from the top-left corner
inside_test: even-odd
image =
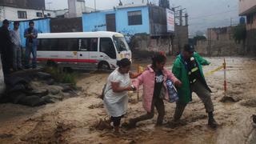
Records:
[[[128,91],[134,90],[130,78],[138,77],[139,74],[130,73],[130,60],[122,58],[117,62],[118,68],[107,78],[104,92],[104,106],[111,116],[110,122],[114,123],[114,132],[119,132],[121,118],[126,114],[128,105]]]

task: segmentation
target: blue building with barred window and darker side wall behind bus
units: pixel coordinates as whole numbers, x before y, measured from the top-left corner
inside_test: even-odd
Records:
[[[82,15],[83,31],[116,31],[126,35],[167,34],[166,9],[159,6],[118,6]]]

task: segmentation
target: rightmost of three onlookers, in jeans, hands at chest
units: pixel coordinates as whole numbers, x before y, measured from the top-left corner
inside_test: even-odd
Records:
[[[34,22],[29,22],[30,27],[24,32],[26,38],[26,60],[25,68],[30,68],[30,54],[32,53],[32,68],[37,68],[37,46],[38,46],[38,30],[34,28]]]

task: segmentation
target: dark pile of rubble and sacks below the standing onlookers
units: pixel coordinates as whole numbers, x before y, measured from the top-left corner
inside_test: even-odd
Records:
[[[37,70],[21,71],[5,78],[6,90],[0,102],[42,106],[77,95],[71,84],[54,81],[50,74]]]

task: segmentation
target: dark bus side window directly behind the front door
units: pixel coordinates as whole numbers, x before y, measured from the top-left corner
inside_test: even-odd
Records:
[[[79,41],[80,50],[98,51],[98,38],[82,38]]]

